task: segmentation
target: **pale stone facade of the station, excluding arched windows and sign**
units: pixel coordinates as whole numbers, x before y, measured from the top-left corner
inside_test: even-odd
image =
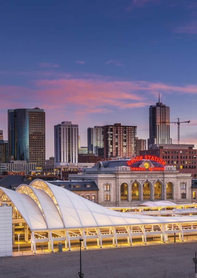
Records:
[[[131,171],[128,166],[98,167],[83,169],[81,175],[69,175],[72,180],[93,180],[98,186],[98,204],[103,206],[138,206],[145,201],[159,200],[154,198],[154,185],[161,184],[161,199],[177,204],[192,202],[191,174],[179,174],[173,166],[164,167],[164,171]],[[110,162],[112,166],[113,161]],[[117,162],[115,162],[117,165]],[[114,164],[115,164],[114,163]],[[121,163],[119,163],[121,165]],[[122,163],[123,164],[123,163]],[[100,167],[100,168],[99,168]],[[143,185],[150,184],[150,199],[143,200]],[[127,200],[121,200],[121,185],[127,184]],[[133,183],[139,186],[139,200],[132,200],[131,187]],[[172,198],[167,199],[166,185],[172,184]],[[107,186],[106,186],[107,185]],[[107,190],[106,190],[107,189]],[[108,200],[106,200],[105,196]]]

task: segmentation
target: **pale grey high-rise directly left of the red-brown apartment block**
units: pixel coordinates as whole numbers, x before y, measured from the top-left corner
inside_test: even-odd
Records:
[[[87,129],[88,153],[98,155],[98,148],[103,148],[102,126]]]

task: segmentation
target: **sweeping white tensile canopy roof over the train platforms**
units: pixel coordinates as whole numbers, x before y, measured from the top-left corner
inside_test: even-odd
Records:
[[[0,187],[0,192],[12,201],[30,230],[197,222],[197,216],[157,217],[113,211],[39,179],[29,186],[20,185],[16,191]]]

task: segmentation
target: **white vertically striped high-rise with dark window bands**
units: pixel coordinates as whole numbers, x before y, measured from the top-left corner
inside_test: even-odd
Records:
[[[55,163],[78,162],[78,124],[62,122],[54,126]]]

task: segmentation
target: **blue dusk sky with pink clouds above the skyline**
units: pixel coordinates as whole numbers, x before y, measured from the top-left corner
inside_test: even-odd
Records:
[[[148,134],[148,108],[170,106],[180,142],[197,147],[197,1],[1,1],[0,129],[7,110],[43,108],[46,158],[54,125],[121,123]],[[177,125],[171,124],[177,143]]]

